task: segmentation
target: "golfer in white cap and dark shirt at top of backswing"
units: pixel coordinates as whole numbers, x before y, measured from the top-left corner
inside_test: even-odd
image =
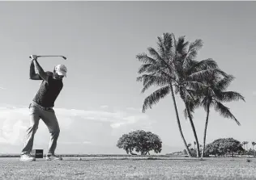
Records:
[[[35,72],[35,67],[38,73]],[[60,128],[53,107],[58,94],[62,90],[62,78],[66,77],[66,71],[65,65],[56,65],[53,73],[45,72],[41,65],[38,64],[36,55],[31,56],[30,79],[42,80],[42,83],[35,98],[33,98],[32,103],[28,107],[30,126],[27,130],[22,153],[20,153],[20,161],[36,161],[36,158],[31,156],[31,151],[40,119],[44,121],[50,133],[49,151],[46,154],[46,160],[62,160],[62,157],[58,157],[54,153]]]

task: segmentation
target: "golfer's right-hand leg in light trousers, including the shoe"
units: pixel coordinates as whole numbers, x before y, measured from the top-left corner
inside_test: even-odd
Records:
[[[49,150],[48,150],[47,156],[49,155],[54,156],[55,149],[57,147],[58,136],[60,133],[58,119],[55,115],[54,110],[43,111],[42,120],[47,125],[47,128],[49,129],[49,133],[50,133]],[[58,157],[56,158],[54,157],[54,159],[58,159]]]

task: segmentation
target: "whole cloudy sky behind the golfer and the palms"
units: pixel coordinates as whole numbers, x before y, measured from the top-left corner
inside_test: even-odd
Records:
[[[160,136],[160,154],[185,149],[169,94],[142,113],[136,82],[136,55],[156,48],[164,32],[203,40],[198,61],[212,58],[235,78],[228,90],[245,102],[226,105],[241,123],[224,119],[211,109],[207,143],[233,137],[256,141],[256,2],[0,2],[0,153],[20,153],[29,124],[28,105],[41,81],[28,78],[31,54],[63,55],[38,59],[45,71],[66,65],[67,77],[55,102],[61,133],[56,153],[126,153],[119,137],[137,129]],[[187,143],[194,142],[190,122],[182,114]],[[194,125],[200,144],[206,112],[198,109]],[[48,129],[40,121],[33,149],[47,151]],[[249,145],[250,147],[250,145]]]

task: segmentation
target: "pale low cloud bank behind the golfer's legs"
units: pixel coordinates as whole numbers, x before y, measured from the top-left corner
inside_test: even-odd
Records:
[[[59,144],[62,147],[72,144],[74,150],[75,145],[81,144],[114,145],[122,134],[132,129],[150,129],[153,123],[147,115],[135,111],[85,111],[65,108],[54,108],[54,111],[61,128]],[[0,107],[0,144],[22,146],[28,126],[28,107]],[[40,121],[34,144],[41,147],[48,143],[48,128]]]

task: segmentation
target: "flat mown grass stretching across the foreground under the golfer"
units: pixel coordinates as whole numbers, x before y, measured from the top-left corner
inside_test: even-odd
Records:
[[[256,158],[147,160],[124,157],[64,157],[63,161],[20,162],[0,158],[1,179],[255,179]]]

